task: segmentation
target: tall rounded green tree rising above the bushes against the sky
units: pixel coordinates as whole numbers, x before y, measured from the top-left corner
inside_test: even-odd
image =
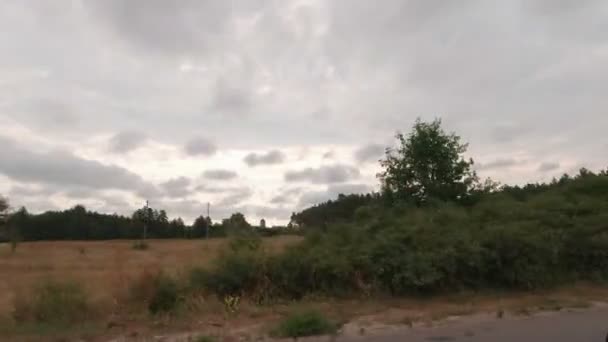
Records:
[[[396,138],[399,146],[387,148],[378,174],[389,197],[420,205],[431,198],[460,200],[470,193],[477,177],[473,160],[463,157],[468,145],[446,133],[440,119],[417,119],[409,135],[397,133]]]

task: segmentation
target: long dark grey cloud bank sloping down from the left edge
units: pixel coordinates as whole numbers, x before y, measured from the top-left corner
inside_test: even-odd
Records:
[[[84,159],[66,151],[34,152],[0,137],[0,173],[24,182],[89,189],[131,190],[157,194],[153,184],[119,166]]]

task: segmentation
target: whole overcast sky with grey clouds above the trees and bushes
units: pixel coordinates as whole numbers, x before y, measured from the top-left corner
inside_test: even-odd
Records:
[[[482,177],[606,167],[607,34],[603,0],[4,0],[0,193],[283,223],[416,117]]]

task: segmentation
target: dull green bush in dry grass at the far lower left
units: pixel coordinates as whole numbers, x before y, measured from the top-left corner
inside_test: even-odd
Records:
[[[13,318],[18,323],[73,324],[89,314],[87,295],[80,284],[46,281],[15,298]]]

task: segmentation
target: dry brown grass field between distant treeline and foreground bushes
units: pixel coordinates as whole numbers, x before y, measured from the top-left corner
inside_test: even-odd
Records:
[[[297,241],[294,236],[264,239],[276,251]],[[0,244],[0,316],[13,308],[13,298],[45,279],[74,280],[97,303],[111,303],[114,294],[147,271],[178,274],[192,266],[207,266],[227,240],[149,240],[145,251],[133,241],[52,241],[21,243],[15,254]]]

